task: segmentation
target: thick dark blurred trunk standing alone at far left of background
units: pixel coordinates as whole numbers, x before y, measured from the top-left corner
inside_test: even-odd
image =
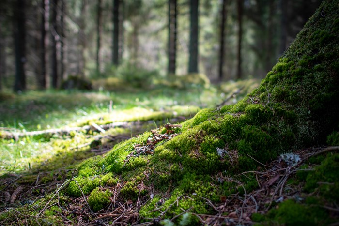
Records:
[[[25,0],[16,0],[14,19],[14,44],[15,44],[15,84],[14,91],[26,90],[26,28],[25,28]]]

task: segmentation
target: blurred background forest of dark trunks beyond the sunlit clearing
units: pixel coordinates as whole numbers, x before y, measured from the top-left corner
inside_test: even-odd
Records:
[[[0,88],[59,88],[70,75],[131,68],[160,79],[198,71],[212,82],[263,78],[320,2],[2,0]]]

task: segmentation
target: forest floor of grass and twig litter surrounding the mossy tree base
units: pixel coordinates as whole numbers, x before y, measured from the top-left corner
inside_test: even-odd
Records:
[[[177,123],[192,118],[200,109],[216,108],[221,103],[234,104],[257,85],[257,81],[248,80],[230,82],[219,87],[183,90],[161,88],[134,92],[46,91],[20,95],[2,94],[0,225],[105,225],[133,222],[148,225],[157,224],[160,220],[161,224],[172,225],[175,219],[181,219],[179,224],[185,225],[185,221],[189,222],[190,208],[182,209],[171,219],[145,218],[141,223],[139,210],[149,200],[139,200],[141,188],[138,188],[137,201],[118,198],[115,200],[119,181],[115,181],[114,201],[111,200],[109,205],[97,210],[98,212],[93,212],[89,207],[88,196],[82,193],[78,198],[63,200],[62,190],[69,184],[68,179],[77,175],[78,164],[83,160],[93,156],[101,159],[101,156],[114,149],[115,145],[145,131],[152,131],[152,136],[157,137],[159,141],[153,141],[155,146],[157,142],[174,136],[161,134],[159,131],[164,128],[174,131],[176,126],[180,126]],[[136,145],[135,149],[138,148],[142,147]],[[253,179],[255,175],[252,181],[255,182],[253,187],[257,189],[248,193],[247,185],[241,180],[227,178],[222,173],[215,175],[216,181],[230,181],[238,192],[228,197],[218,197],[218,204],[209,198],[200,197],[200,202],[203,201],[209,206],[214,214],[191,214],[199,219],[200,223],[207,225],[251,225],[256,221],[269,219],[269,214],[274,217],[271,223],[275,224],[275,221],[284,219],[286,212],[289,216],[294,212],[310,212],[309,215],[294,214],[296,222],[301,219],[300,222],[304,220],[312,223],[314,218],[319,218],[319,223],[323,223],[324,210],[330,210],[336,218],[338,208],[327,205],[327,202],[320,206],[319,202],[315,201],[314,194],[301,193],[302,184],[305,182],[300,182],[305,180],[307,172],[313,171],[315,167],[324,170],[325,165],[321,163],[325,159],[324,155],[331,151],[337,149],[313,147],[298,150],[297,155],[286,156],[284,160],[284,157],[280,156],[268,165],[262,164],[257,171],[243,172],[240,177]],[[299,159],[293,162],[293,158]],[[104,167],[103,165],[102,170]],[[212,182],[211,185],[216,186]],[[164,196],[168,195],[166,194]],[[284,202],[279,210],[272,208],[287,197],[294,201]],[[165,216],[175,203],[178,205],[179,202],[190,198],[178,196],[171,200],[167,208],[155,208],[153,211],[161,211],[160,216]],[[303,199],[307,199],[309,203],[313,202],[314,205],[305,209],[298,203],[298,200]],[[163,201],[162,197],[158,196],[154,196],[154,200],[158,200],[158,203]],[[68,209],[62,208],[64,205],[61,203],[68,203]],[[158,203],[156,205],[159,205]],[[29,208],[25,209],[25,206]],[[35,215],[31,215],[31,212]],[[262,216],[257,213],[269,214]]]

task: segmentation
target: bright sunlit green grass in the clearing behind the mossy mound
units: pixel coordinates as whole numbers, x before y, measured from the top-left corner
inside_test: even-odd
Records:
[[[228,82],[217,88],[171,89],[166,86],[151,90],[127,91],[28,91],[22,94],[0,94],[0,127],[11,132],[37,131],[66,126],[83,126],[93,122],[107,124],[116,121],[150,121],[141,130],[113,129],[107,134],[132,136],[158,127],[178,116],[193,117],[201,108],[214,107],[235,89],[254,86],[258,81]],[[238,87],[238,88],[237,88]],[[254,88],[252,88],[254,89]],[[242,93],[241,98],[246,93]],[[111,112],[109,112],[111,105]],[[155,123],[154,123],[154,122]],[[162,121],[162,122],[160,122]],[[1,133],[1,130],[0,130]],[[93,156],[85,149],[74,152],[77,145],[93,141],[94,134],[74,133],[70,136],[34,136],[18,140],[0,139],[0,174],[19,172],[49,162],[54,155],[63,156],[61,164],[52,162],[49,169],[70,165]],[[68,157],[67,157],[68,156]],[[61,158],[57,158],[60,161]],[[74,160],[76,159],[76,160]],[[55,159],[54,159],[55,160]],[[45,164],[46,165],[46,164]],[[39,166],[40,167],[40,166]],[[49,170],[48,169],[48,170]]]

